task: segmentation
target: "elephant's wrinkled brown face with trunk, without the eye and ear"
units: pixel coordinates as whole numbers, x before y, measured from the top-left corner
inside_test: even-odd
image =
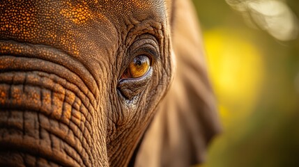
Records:
[[[0,166],[127,166],[174,76],[166,11],[1,0]],[[121,82],[139,54],[151,70]]]

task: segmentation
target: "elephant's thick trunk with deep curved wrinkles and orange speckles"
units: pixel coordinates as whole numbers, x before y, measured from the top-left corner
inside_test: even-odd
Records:
[[[98,105],[78,79],[42,58],[0,56],[0,166],[108,164],[93,135]]]

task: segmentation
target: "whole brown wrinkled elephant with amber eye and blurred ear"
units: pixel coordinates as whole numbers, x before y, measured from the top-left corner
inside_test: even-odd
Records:
[[[188,166],[221,131],[187,0],[1,0],[0,166]]]

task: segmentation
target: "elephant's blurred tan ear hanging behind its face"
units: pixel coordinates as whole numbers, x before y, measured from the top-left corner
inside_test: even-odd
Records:
[[[135,166],[199,164],[221,129],[192,3],[176,0],[171,6],[176,77],[144,134]]]

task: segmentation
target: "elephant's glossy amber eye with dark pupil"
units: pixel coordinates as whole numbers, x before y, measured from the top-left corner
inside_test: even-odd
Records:
[[[128,65],[121,79],[136,79],[143,77],[151,67],[151,59],[148,56],[136,56]]]

